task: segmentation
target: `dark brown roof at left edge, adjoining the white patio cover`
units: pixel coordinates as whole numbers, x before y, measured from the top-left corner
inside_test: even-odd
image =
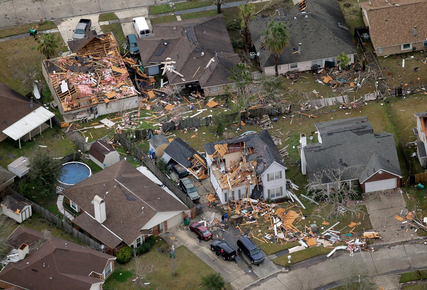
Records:
[[[28,98],[0,83],[0,132],[40,107],[35,103],[30,107],[29,102]]]

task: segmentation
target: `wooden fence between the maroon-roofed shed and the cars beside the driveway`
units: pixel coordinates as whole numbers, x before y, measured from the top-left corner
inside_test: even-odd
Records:
[[[155,166],[153,160],[146,156],[142,150],[137,148],[132,144],[131,140],[127,139],[125,136],[120,135],[120,143],[128,148],[130,152],[132,152],[137,158],[139,158],[156,176],[157,178],[166,185],[178,198],[180,198],[185,204],[187,204],[190,209],[196,207],[194,202],[189,198],[181,189],[179,189],[175,183],[170,181],[170,179],[161,172],[160,169]]]

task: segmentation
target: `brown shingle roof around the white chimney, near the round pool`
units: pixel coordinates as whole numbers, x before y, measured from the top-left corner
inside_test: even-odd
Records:
[[[91,201],[95,195],[99,195],[105,201],[107,213],[107,219],[102,225],[128,245],[133,243],[139,235],[144,234],[140,231],[141,228],[156,213],[188,210],[181,202],[149,180],[126,160],[121,160],[84,181],[70,186],[62,194],[93,217],[95,213]],[[77,222],[83,222],[84,219],[85,226],[88,226],[88,228],[84,228],[85,231],[97,237],[98,226],[95,227],[93,224],[91,226],[90,220],[83,217],[76,219]],[[97,237],[107,246],[107,242],[111,244],[101,238]]]

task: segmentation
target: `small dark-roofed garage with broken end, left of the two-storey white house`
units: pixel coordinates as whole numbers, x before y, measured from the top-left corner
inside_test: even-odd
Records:
[[[197,179],[209,177],[206,159],[179,137],[167,145],[162,158],[167,164],[175,161]]]

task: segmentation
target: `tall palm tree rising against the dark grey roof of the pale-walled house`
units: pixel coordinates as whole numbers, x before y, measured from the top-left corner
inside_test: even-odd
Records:
[[[282,53],[284,47],[289,45],[290,37],[289,28],[283,24],[283,22],[275,22],[274,20],[271,20],[267,24],[267,28],[263,30],[264,44],[274,55],[276,76],[279,75],[277,69],[277,58]]]

